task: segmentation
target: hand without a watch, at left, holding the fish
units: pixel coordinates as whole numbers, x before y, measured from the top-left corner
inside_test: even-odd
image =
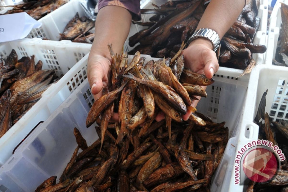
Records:
[[[92,54],[88,57],[87,77],[91,88],[91,93],[95,100],[102,96],[103,88],[107,88],[110,81],[110,64],[108,59],[101,54]],[[118,113],[113,113],[110,121],[118,122]]]

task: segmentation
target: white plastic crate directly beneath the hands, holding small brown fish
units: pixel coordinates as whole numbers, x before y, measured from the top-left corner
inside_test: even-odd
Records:
[[[146,57],[145,62],[151,59],[157,60]],[[53,91],[58,91],[54,89],[61,87],[69,89],[67,81],[75,79],[79,73],[86,74],[87,59],[88,55],[68,71],[49,90],[51,94]],[[132,56],[128,56],[128,59],[131,60]],[[235,155],[235,148],[232,145],[237,146],[240,142],[238,135],[243,129],[241,122],[248,87],[248,77],[235,78],[240,73],[240,70],[238,72],[227,71],[227,68],[220,67],[214,77],[215,83],[206,89],[208,97],[202,98],[197,106],[199,112],[211,117],[214,121],[226,121],[225,126],[229,127],[230,139],[218,171],[213,177],[211,191],[221,191],[222,187],[227,187],[232,176],[231,167]],[[10,191],[32,191],[49,176],[57,175],[59,178],[77,145],[73,136],[74,127],[79,128],[88,145],[96,140],[95,129],[91,127],[87,129],[85,126],[88,111],[94,100],[88,80],[81,82],[79,81],[79,87],[69,98],[24,140],[16,153],[0,168],[0,191],[1,185],[3,189]],[[27,177],[28,172],[31,177]],[[224,175],[219,178],[219,174],[223,173]]]

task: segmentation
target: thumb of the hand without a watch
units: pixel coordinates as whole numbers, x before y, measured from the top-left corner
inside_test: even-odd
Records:
[[[93,64],[89,67],[88,81],[91,87],[91,93],[93,95],[98,94],[103,88],[103,69],[97,64]]]

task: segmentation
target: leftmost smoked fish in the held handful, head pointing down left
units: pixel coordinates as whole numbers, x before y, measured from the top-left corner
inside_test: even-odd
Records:
[[[120,92],[125,87],[126,83],[123,83],[120,88],[101,96],[93,103],[86,119],[87,128],[96,121],[97,117],[101,114],[101,111],[103,111],[110,103],[112,103],[118,97]]]

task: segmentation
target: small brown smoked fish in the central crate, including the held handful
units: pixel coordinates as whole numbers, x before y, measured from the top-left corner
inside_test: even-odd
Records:
[[[190,97],[205,97],[200,85],[214,80],[184,69],[181,49],[172,59],[145,64],[139,52],[128,63],[126,53],[114,54],[110,45],[109,51],[110,92],[103,90],[86,119],[87,127],[99,125],[99,139],[88,147],[75,128],[78,146],[59,183],[48,178],[36,191],[209,191],[228,128],[195,112]],[[160,109],[166,118],[156,121]],[[194,113],[182,121],[187,109]],[[109,124],[114,111],[119,122]]]

